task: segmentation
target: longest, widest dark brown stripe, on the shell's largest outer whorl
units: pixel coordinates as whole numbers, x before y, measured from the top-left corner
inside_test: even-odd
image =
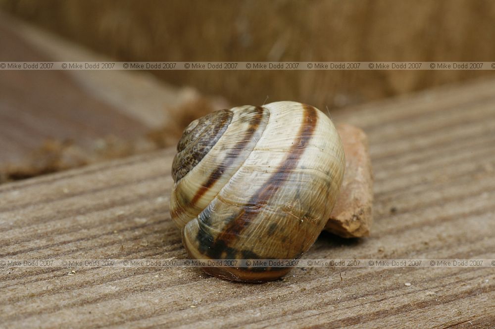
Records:
[[[251,221],[258,215],[259,209],[267,204],[268,200],[287,181],[291,172],[297,167],[301,155],[304,153],[309,141],[313,137],[318,121],[316,109],[310,105],[302,104],[304,108],[304,121],[297,133],[296,142],[291,146],[286,158],[267,182],[251,197],[243,206],[243,210],[236,218],[231,220],[223,232],[217,236],[210,248],[206,248],[209,257],[221,258],[225,247],[228,247],[244,231]]]

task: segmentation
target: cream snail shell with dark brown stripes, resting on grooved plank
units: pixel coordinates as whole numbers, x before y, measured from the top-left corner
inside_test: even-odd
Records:
[[[219,110],[193,121],[177,145],[171,217],[194,259],[298,259],[324,229],[344,168],[339,134],[313,106]],[[203,267],[241,282],[290,269]]]

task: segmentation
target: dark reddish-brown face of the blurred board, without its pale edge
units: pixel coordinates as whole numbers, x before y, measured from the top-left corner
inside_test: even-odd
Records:
[[[49,61],[49,56],[0,24],[0,57],[5,61]],[[63,71],[2,71],[0,141],[20,143],[17,152],[1,152],[1,162],[19,160],[49,138],[91,141],[114,133],[139,136],[146,126],[85,92]],[[130,132],[130,134],[129,134]]]

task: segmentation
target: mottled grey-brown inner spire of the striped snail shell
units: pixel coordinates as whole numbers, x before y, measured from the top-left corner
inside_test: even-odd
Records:
[[[222,137],[233,117],[231,110],[220,110],[193,121],[177,144],[172,177],[177,183],[186,176]]]

